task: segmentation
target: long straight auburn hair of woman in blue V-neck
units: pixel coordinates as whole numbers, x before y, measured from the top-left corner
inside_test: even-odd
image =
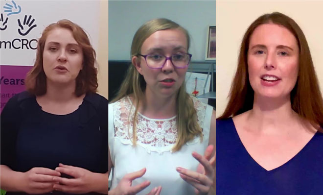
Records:
[[[291,91],[292,109],[312,124],[323,127],[323,98],[305,35],[293,19],[279,12],[262,15],[248,27],[240,47],[238,66],[229,94],[230,100],[218,119],[236,116],[253,108],[254,90],[250,85],[247,63],[249,42],[256,27],[270,23],[287,28],[298,42],[299,73]]]

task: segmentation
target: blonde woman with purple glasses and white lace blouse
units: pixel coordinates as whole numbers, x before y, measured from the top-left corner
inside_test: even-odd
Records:
[[[186,93],[188,49],[188,32],[173,21],[137,30],[109,104],[109,195],[214,195],[215,112]]]

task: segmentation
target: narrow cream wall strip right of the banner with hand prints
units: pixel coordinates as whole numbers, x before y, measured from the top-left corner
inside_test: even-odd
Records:
[[[98,94],[108,99],[108,1],[100,2],[99,17],[99,40],[98,49],[96,51],[97,63],[99,65],[98,78]]]

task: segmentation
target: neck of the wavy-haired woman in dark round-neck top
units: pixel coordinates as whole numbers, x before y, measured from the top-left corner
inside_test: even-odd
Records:
[[[75,96],[75,82],[69,84],[57,84],[52,83],[47,79],[47,90],[44,97],[50,101],[55,102],[67,102],[71,99],[74,99]]]

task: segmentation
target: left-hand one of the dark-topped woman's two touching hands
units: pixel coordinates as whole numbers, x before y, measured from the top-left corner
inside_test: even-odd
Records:
[[[35,167],[22,174],[22,191],[28,194],[45,194],[54,190],[54,178],[61,174],[48,168]]]

